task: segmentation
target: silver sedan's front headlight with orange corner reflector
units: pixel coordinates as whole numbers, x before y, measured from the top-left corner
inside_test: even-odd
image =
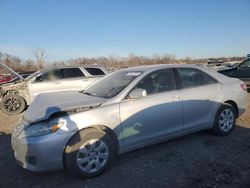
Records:
[[[20,137],[42,136],[56,132],[61,126],[65,125],[66,121],[59,119],[57,121],[52,120],[50,122],[41,122],[32,125],[25,129]]]

